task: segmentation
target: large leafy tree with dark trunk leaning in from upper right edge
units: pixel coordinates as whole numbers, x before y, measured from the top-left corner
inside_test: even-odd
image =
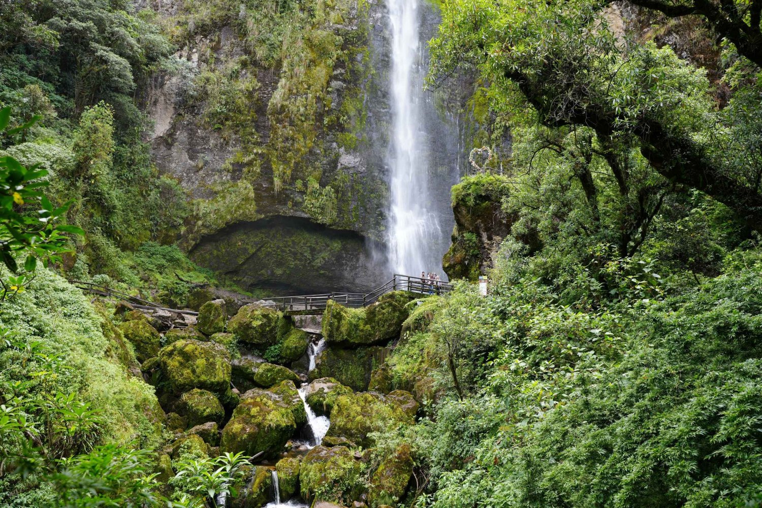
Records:
[[[623,54],[601,8],[588,0],[447,2],[430,83],[475,65],[492,86],[519,92],[543,125],[585,126],[629,143],[668,181],[709,194],[762,231],[762,194],[747,183],[760,168],[734,164],[741,158],[728,152],[743,148],[712,110],[704,73],[652,44]]]

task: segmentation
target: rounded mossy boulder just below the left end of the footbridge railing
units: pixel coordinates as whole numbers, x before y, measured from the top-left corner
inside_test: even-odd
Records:
[[[264,348],[276,344],[291,330],[291,326],[282,312],[249,304],[240,308],[228,322],[228,331],[244,343]]]

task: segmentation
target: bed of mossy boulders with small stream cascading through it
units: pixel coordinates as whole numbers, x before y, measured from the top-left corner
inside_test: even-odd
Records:
[[[376,433],[415,423],[418,413],[414,395],[392,389],[383,365],[410,301],[393,292],[364,309],[331,302],[322,320],[295,322],[256,303],[229,317],[219,299],[200,306],[196,324],[163,334],[140,313],[123,312],[120,330],[173,436],[157,472],[171,478],[185,454],[242,452],[256,459],[227,506],[377,507],[402,499],[410,450],[380,459],[371,451]]]

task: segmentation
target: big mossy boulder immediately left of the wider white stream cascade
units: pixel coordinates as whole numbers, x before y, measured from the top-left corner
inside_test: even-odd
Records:
[[[268,390],[253,388],[241,396],[223,429],[219,447],[222,452],[274,456],[306,420],[304,404],[292,381]]]

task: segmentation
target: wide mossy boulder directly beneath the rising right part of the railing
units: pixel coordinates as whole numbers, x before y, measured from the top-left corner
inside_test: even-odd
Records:
[[[398,339],[408,318],[408,293],[395,291],[381,296],[366,308],[347,308],[332,300],[323,313],[322,334],[331,344],[349,347]]]

